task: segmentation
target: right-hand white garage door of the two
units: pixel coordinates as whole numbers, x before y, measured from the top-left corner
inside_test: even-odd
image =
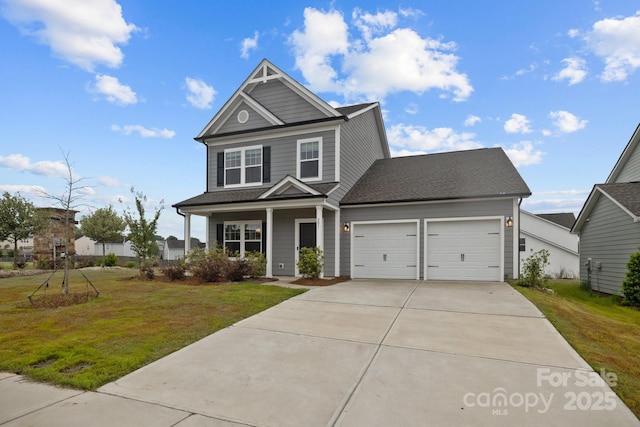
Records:
[[[427,221],[427,280],[502,281],[497,219]]]

